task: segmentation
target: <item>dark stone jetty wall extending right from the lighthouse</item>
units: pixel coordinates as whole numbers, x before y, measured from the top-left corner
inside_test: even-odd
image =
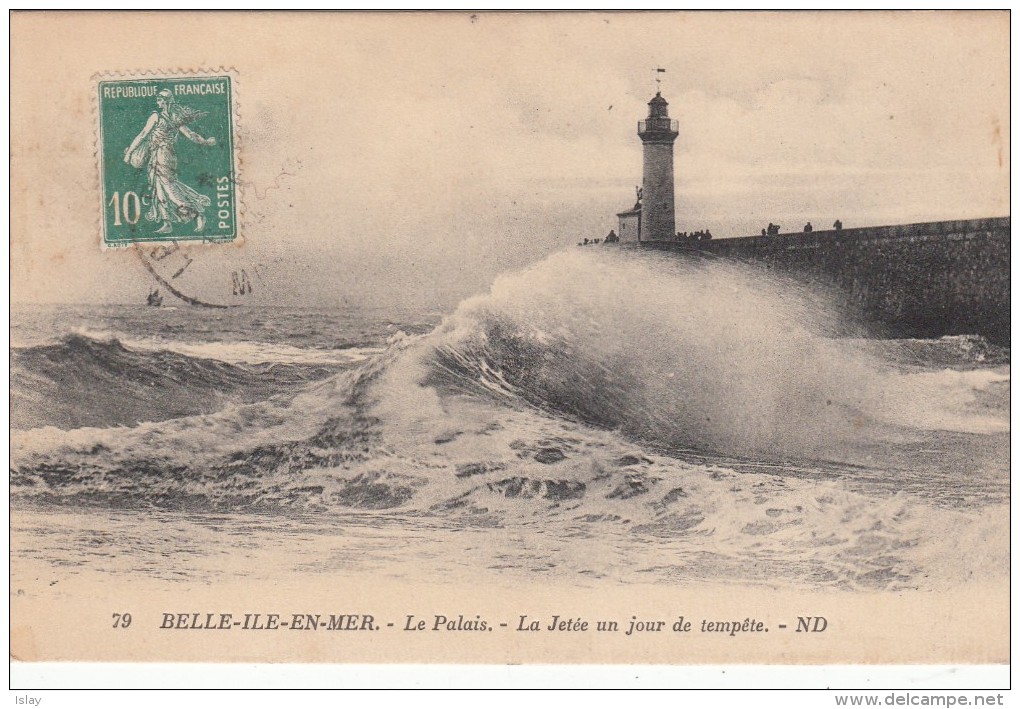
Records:
[[[832,288],[880,335],[1010,342],[1010,217],[635,246],[715,254]]]

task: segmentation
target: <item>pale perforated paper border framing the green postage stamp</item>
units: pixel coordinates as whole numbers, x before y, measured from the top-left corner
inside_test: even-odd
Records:
[[[212,239],[187,239],[181,240],[188,246],[242,246],[245,241],[245,200],[244,181],[241,179],[241,168],[244,163],[243,144],[241,143],[241,101],[240,101],[240,71],[234,66],[216,67],[196,67],[196,68],[175,68],[175,69],[139,69],[139,70],[109,70],[97,71],[92,74],[89,83],[89,91],[92,101],[92,121],[93,121],[93,159],[96,163],[95,180],[93,189],[95,200],[99,204],[98,218],[96,219],[96,238],[99,241],[99,248],[106,250],[120,250],[132,247],[151,248],[153,245],[173,243],[173,240],[166,241],[130,241],[122,244],[110,244],[106,241],[103,225],[103,210],[106,205],[103,201],[103,136],[102,117],[99,113],[99,84],[104,81],[132,81],[155,78],[187,79],[195,77],[201,79],[205,77],[230,77],[231,78],[231,140],[234,144],[234,195],[237,210],[237,226],[234,239],[230,241]]]

